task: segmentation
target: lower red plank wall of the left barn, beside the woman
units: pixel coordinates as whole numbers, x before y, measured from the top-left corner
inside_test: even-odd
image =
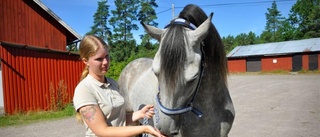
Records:
[[[61,80],[71,102],[84,65],[78,55],[57,54],[0,46],[5,112],[48,110],[50,88],[57,90]],[[51,90],[52,92],[52,90]],[[55,91],[57,92],[57,91]],[[56,94],[56,93],[55,93]]]

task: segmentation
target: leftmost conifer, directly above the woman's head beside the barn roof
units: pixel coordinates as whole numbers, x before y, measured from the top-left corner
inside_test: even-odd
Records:
[[[107,27],[107,20],[110,16],[109,5],[107,5],[108,0],[98,1],[98,9],[94,14],[93,26],[91,26],[91,31],[87,34],[94,34],[101,37],[103,40],[107,41],[111,35],[110,28]]]

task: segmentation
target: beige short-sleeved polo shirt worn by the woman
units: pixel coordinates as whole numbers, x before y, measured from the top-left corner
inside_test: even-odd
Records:
[[[88,74],[76,87],[73,104],[78,111],[86,105],[99,105],[109,126],[125,126],[126,113],[124,99],[119,93],[117,82],[106,77],[107,83],[101,83]],[[86,136],[94,136],[86,125]]]

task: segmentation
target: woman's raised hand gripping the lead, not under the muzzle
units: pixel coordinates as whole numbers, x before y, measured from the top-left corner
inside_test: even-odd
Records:
[[[145,118],[145,117],[150,119],[150,118],[152,118],[153,115],[154,115],[153,105],[146,105],[142,109],[140,109],[132,114],[132,121],[137,121],[137,120]]]

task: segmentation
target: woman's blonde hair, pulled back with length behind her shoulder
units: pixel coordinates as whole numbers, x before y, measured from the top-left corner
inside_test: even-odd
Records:
[[[99,48],[109,50],[108,44],[100,37],[95,35],[86,35],[80,42],[79,53],[80,59],[89,60],[89,58],[96,54]],[[80,81],[82,81],[89,74],[88,66],[84,68],[81,74]],[[76,114],[77,121],[83,124],[83,120],[79,111]]]

